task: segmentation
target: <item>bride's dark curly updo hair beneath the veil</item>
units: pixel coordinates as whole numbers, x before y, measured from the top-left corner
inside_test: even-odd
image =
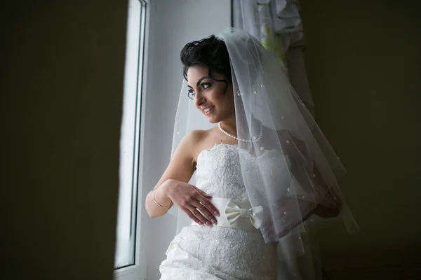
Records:
[[[187,70],[190,66],[199,65],[208,68],[209,77],[212,73],[222,74],[232,83],[231,64],[225,42],[214,35],[199,41],[187,43],[180,53],[183,64],[183,76],[187,80]]]

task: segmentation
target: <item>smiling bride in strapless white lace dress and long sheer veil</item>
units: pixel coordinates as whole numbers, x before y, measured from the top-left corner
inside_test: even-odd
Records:
[[[321,218],[357,226],[338,188],[345,169],[285,67],[236,29],[187,43],[181,61],[176,148],[146,209],[175,204],[189,225],[161,279],[316,279],[310,230]]]

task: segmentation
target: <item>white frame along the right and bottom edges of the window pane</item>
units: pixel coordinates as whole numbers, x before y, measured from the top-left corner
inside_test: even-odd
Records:
[[[144,208],[144,199],[142,197],[142,174],[143,174],[143,158],[145,154],[145,92],[147,88],[147,60],[148,60],[148,47],[149,47],[149,23],[150,23],[150,12],[152,1],[154,0],[128,0],[129,4],[133,1],[140,1],[146,4],[146,13],[145,13],[145,27],[140,28],[140,36],[144,37],[143,46],[139,45],[139,57],[138,61],[142,59],[142,76],[138,77],[138,104],[136,104],[138,110],[136,111],[136,120],[140,122],[138,128],[138,134],[136,135],[135,141],[138,141],[138,148],[135,149],[135,153],[138,153],[138,158],[135,158],[134,165],[137,165],[138,172],[138,189],[133,192],[135,196],[136,203],[136,223],[135,223],[135,263],[134,265],[129,265],[127,267],[122,267],[114,270],[114,279],[116,280],[142,280],[147,278],[147,269],[146,269],[146,248],[142,242],[142,209]],[[130,11],[128,11],[130,13]],[[128,18],[128,20],[131,20]],[[138,21],[139,24],[142,23],[142,18],[137,17],[134,20]],[[137,40],[139,41],[139,40]],[[137,162],[136,162],[137,161]]]

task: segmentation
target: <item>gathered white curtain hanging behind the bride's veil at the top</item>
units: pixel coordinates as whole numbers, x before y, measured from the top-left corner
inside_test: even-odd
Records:
[[[303,50],[298,0],[232,0],[234,27],[248,31],[268,50],[272,50],[288,67],[290,83],[314,115]]]

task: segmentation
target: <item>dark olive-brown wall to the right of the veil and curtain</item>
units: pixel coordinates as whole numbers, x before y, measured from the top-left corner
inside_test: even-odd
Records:
[[[301,1],[316,118],[349,171],[342,189],[361,226],[322,232],[326,267],[421,253],[421,5],[404,2]]]

